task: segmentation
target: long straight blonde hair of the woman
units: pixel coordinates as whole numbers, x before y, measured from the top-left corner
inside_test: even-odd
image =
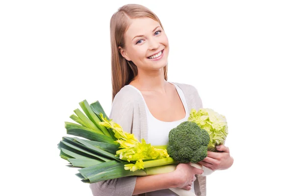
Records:
[[[125,47],[124,34],[130,25],[130,19],[148,17],[157,21],[163,29],[159,18],[147,7],[139,4],[126,4],[113,14],[110,20],[111,40],[111,80],[112,100],[116,94],[129,84],[138,74],[136,65],[126,60],[119,47]],[[164,78],[168,79],[168,66],[164,67]]]

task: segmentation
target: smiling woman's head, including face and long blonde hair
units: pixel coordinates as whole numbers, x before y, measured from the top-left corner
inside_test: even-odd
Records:
[[[151,10],[137,4],[121,7],[111,18],[110,36],[113,99],[138,72],[144,73],[146,69],[163,71],[167,80],[169,41],[163,25]],[[161,57],[156,58],[160,51]],[[162,67],[163,70],[157,69]]]

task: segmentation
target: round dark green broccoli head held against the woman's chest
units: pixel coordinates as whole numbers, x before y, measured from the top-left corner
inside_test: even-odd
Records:
[[[196,123],[185,121],[169,133],[168,153],[180,163],[197,163],[207,156],[209,134]]]

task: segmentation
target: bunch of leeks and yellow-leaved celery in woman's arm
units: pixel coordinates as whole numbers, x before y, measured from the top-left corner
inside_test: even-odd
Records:
[[[67,134],[83,137],[63,137],[58,144],[60,157],[70,165],[82,168],[76,175],[83,182],[98,182],[131,175],[151,175],[171,172],[175,166],[164,166],[175,163],[165,148],[157,149],[145,140],[140,142],[123,128],[109,119],[98,101],[88,104],[86,100],[79,103],[83,112],[75,109],[70,118],[76,123],[65,122]],[[149,160],[160,160],[160,167]],[[144,167],[143,160],[146,160]],[[164,164],[165,162],[165,164]],[[144,162],[145,163],[145,162]],[[125,170],[128,164],[134,170]],[[141,170],[140,170],[141,169]],[[144,170],[142,170],[144,169]],[[138,170],[138,171],[136,171]],[[136,172],[134,172],[136,171]]]

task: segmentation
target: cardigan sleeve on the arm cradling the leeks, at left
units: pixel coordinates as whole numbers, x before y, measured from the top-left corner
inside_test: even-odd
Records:
[[[109,118],[132,133],[134,101],[127,92],[121,90],[114,98]],[[128,176],[90,184],[93,196],[132,196],[136,176]]]

